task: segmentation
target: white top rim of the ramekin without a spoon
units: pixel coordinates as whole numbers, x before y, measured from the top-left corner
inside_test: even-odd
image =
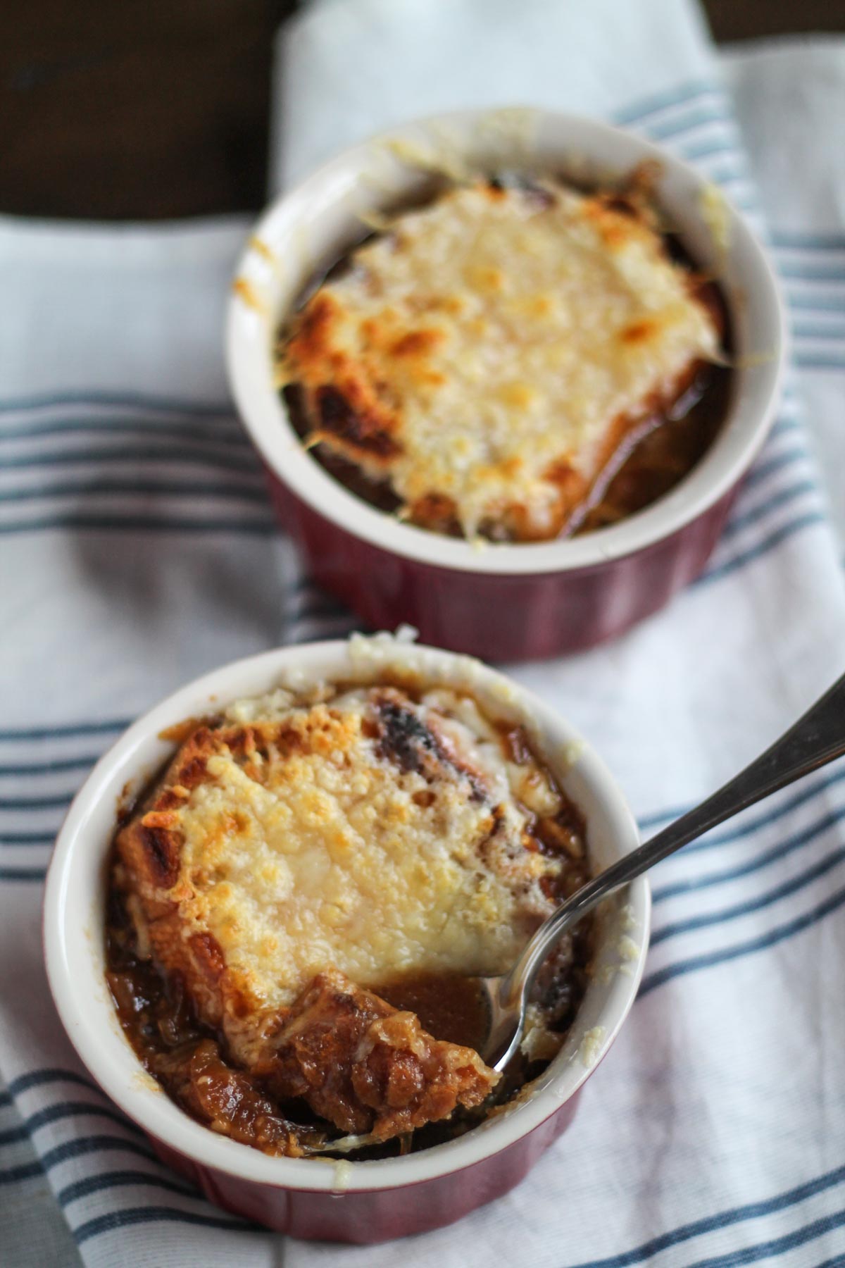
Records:
[[[594,136],[622,138],[631,147],[631,162],[646,157],[655,158],[666,171],[674,170],[682,174],[698,191],[703,193],[708,188],[707,179],[690,164],[625,128],[575,113],[524,109],[531,110],[538,119],[551,119],[555,126],[564,129],[585,129]],[[256,275],[256,270],[260,273],[266,266],[266,260],[255,245],[256,241],[264,243],[269,237],[272,242],[275,222],[284,219],[289,208],[296,200],[303,202],[309,190],[313,197],[319,183],[336,171],[342,171],[353,160],[360,166],[372,147],[384,150],[395,145],[412,129],[448,128],[455,123],[469,124],[490,113],[495,110],[476,108],[408,119],[340,151],[304,180],[274,199],[264,210],[251,228],[247,245],[238,259],[236,281],[250,279]],[[727,209],[731,238],[735,243],[741,243],[742,251],[753,261],[756,284],[765,288],[766,303],[775,313],[777,347],[773,349],[770,363],[765,368],[768,370],[765,380],[758,389],[760,399],[754,410],[753,421],[744,429],[741,444],[730,437],[735,451],[727,454],[730,427],[723,427],[707,454],[675,489],[619,524],[565,540],[478,544],[403,524],[395,516],[376,510],[350,492],[304,451],[271,378],[269,377],[264,384],[265,391],[261,391],[261,384],[250,380],[243,354],[245,340],[248,339],[255,313],[251,313],[250,303],[245,301],[241,289],[233,287],[226,318],[226,363],[229,385],[243,425],[270,472],[312,511],[369,545],[418,564],[492,576],[541,576],[588,571],[609,560],[647,550],[704,515],[745,476],[763,446],[783,387],[788,323],[777,276],[763,245],[745,217],[721,190],[720,197]],[[275,325],[277,318],[274,317],[272,321]],[[264,426],[265,418],[267,426]]]

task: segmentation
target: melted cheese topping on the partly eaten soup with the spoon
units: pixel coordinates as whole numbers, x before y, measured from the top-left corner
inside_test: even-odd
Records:
[[[267,1007],[331,966],[370,987],[409,967],[504,971],[561,870],[523,842],[526,806],[561,808],[542,768],[509,762],[474,701],[447,690],[289,699],[231,710],[283,723],[284,741],[252,773],[220,744],[176,813],[185,936],[210,932]]]

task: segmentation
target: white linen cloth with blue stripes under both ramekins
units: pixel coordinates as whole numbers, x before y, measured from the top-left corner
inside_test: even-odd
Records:
[[[798,369],[704,577],[616,643],[511,667],[595,743],[645,831],[845,668],[844,98],[845,43],[720,65],[678,0],[322,0],[281,37],[284,179],[402,117],[533,103],[642,131],[753,213],[761,191]],[[0,221],[0,1262],[845,1263],[841,763],[658,869],[642,992],[573,1126],[448,1229],[351,1248],[245,1226],[76,1060],[39,903],[87,767],[186,678],[352,628],[274,530],[227,401],[246,228]]]

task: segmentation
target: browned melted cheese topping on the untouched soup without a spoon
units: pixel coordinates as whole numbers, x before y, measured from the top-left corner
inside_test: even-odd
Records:
[[[455,188],[356,250],[295,317],[279,382],[310,440],[441,500],[466,536],[559,531],[626,421],[668,404],[718,332],[646,218],[557,185]],[[400,514],[403,514],[400,508]]]

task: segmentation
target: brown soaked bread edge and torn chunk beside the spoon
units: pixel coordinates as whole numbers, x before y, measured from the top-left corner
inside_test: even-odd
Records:
[[[267,1009],[248,979],[227,964],[208,929],[191,931],[176,812],[191,790],[209,780],[208,762],[224,749],[250,779],[261,780],[260,754],[270,743],[284,753],[303,739],[284,723],[200,727],[118,834],[115,883],[125,896],[139,954],[182,984],[196,1016],[222,1032],[238,1064],[269,1092],[281,1099],[302,1097],[343,1131],[388,1139],[447,1117],[459,1104],[479,1104],[497,1075],[471,1049],[433,1038],[413,1013],[393,1008],[337,970],[314,976],[291,1006]],[[203,1061],[215,1055],[213,1044],[200,1046],[185,1080],[185,1099],[212,1126],[224,1103],[243,1102],[253,1123],[265,1111],[253,1103],[248,1085],[237,1087],[237,1074],[228,1090],[217,1088],[220,1107],[204,1098],[203,1088],[214,1084],[204,1083]],[[272,1120],[270,1103],[266,1116]],[[279,1144],[275,1122],[269,1139]],[[229,1134],[238,1139],[237,1116]],[[261,1148],[260,1132],[257,1141],[255,1135],[252,1127],[250,1142]],[[296,1151],[293,1136],[283,1151]]]

